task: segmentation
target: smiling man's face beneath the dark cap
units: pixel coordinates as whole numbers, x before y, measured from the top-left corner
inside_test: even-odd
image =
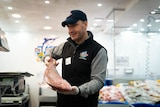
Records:
[[[75,24],[68,24],[68,33],[73,41],[81,43],[84,40],[87,29],[87,21],[77,21]]]

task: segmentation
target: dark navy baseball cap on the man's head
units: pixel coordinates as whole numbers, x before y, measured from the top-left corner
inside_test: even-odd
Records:
[[[68,16],[66,20],[62,22],[62,26],[65,27],[68,24],[75,24],[79,20],[87,21],[86,14],[80,10],[72,10],[71,15]]]

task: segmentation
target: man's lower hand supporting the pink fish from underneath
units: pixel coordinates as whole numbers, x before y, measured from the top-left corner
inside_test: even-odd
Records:
[[[61,93],[61,94],[65,94],[65,95],[77,95],[79,93],[79,89],[77,86],[72,86],[72,89],[71,90],[61,90],[61,89],[57,89],[57,92],[58,93]]]

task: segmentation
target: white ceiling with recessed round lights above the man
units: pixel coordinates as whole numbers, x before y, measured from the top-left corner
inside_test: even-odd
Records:
[[[110,32],[108,19],[114,19],[115,16],[115,32],[120,32],[124,28],[138,24],[139,19],[147,18],[150,12],[158,8],[160,0],[48,0],[49,4],[44,3],[45,0],[0,0],[0,28],[5,32],[19,32],[22,29],[26,32],[64,32],[65,28],[61,26],[61,22],[69,15],[73,9],[80,9],[88,16],[89,27],[94,28],[94,32],[105,31]],[[102,3],[101,7],[97,4]],[[13,7],[8,10],[8,7]],[[13,18],[12,14],[20,14],[21,18]],[[49,16],[50,19],[45,19]],[[154,18],[160,17],[159,14],[152,15]],[[95,18],[102,18],[102,22],[98,22],[98,26],[94,26]],[[19,20],[19,23],[15,23]],[[153,22],[153,18],[150,18]],[[147,21],[146,21],[147,22]],[[154,24],[155,28],[159,28],[159,24]],[[52,29],[44,30],[44,26],[50,26]],[[138,25],[138,29],[143,25]],[[138,30],[138,29],[134,30]]]

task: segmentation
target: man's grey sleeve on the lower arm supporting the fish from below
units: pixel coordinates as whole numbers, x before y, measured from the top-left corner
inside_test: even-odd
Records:
[[[104,86],[108,63],[107,51],[101,48],[91,64],[91,81],[79,86],[81,96],[88,97]]]

